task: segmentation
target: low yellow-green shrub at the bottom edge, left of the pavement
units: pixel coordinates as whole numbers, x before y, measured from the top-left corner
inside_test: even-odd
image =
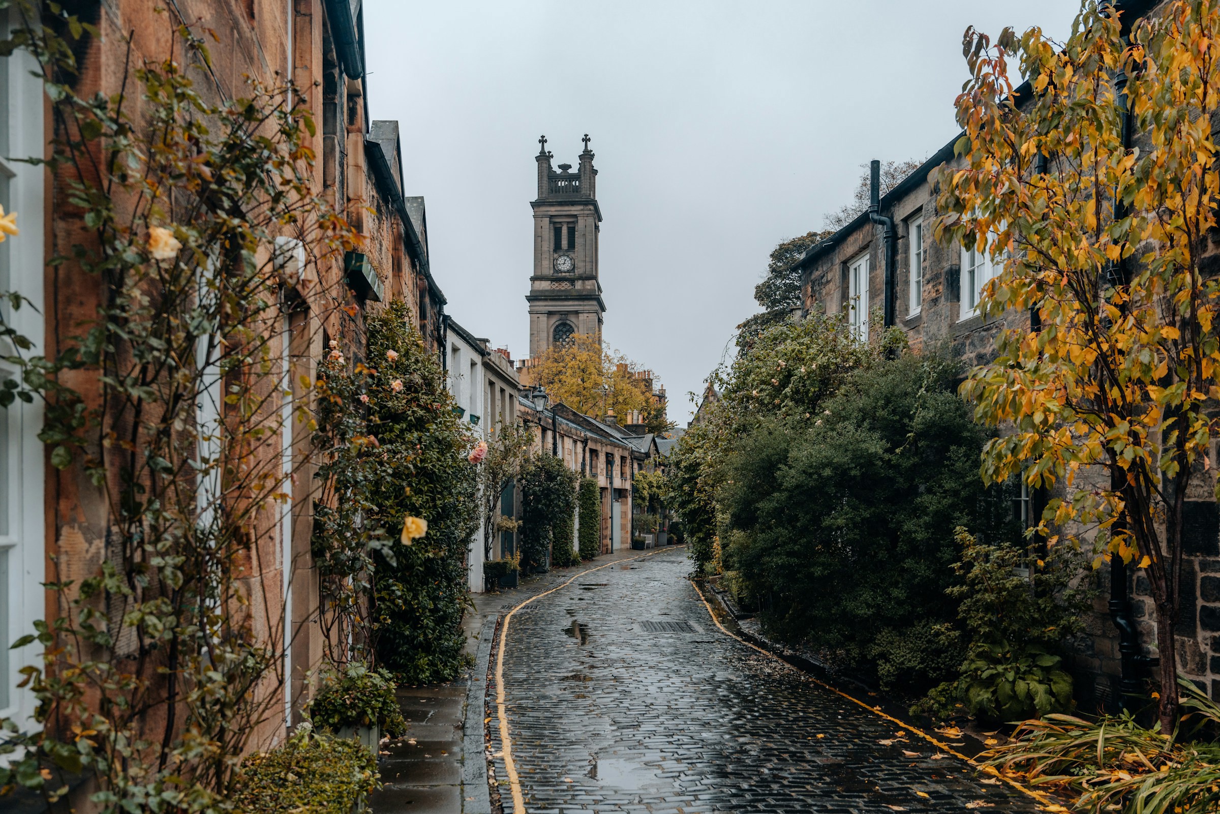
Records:
[[[233,803],[243,814],[350,814],[376,787],[372,752],[305,724],[283,746],[242,762]]]

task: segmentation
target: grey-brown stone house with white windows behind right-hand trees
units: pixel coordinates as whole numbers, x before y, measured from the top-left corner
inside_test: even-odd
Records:
[[[1115,4],[1125,23],[1154,13],[1158,2],[1128,0]],[[1028,85],[1016,89],[1027,98]],[[1138,134],[1136,144],[1138,144]],[[1008,311],[985,320],[976,314],[978,292],[999,273],[989,262],[961,245],[932,238],[938,215],[937,190],[930,173],[942,165],[958,165],[954,137],[889,193],[878,196],[876,215],[867,211],[811,247],[798,261],[802,279],[802,312],[841,314],[861,339],[888,322],[902,328],[911,347],[947,353],[966,367],[994,356],[996,337],[1005,328],[1028,331],[1031,312]],[[887,223],[889,238],[887,239]],[[892,273],[887,282],[887,261]],[[886,320],[887,308],[889,320]],[[1213,460],[1216,456],[1213,454]],[[1085,477],[1103,477],[1100,472]],[[1210,487],[1197,481],[1183,509],[1185,563],[1181,613],[1175,647],[1183,675],[1220,698],[1220,517]],[[1036,524],[1049,495],[1010,484],[1014,519],[1025,527]],[[1070,643],[1070,663],[1078,694],[1087,708],[1113,708],[1121,697],[1122,648],[1128,659],[1128,679],[1152,676],[1158,654],[1153,602],[1141,570],[1115,558],[1088,578],[1098,598],[1085,619],[1085,632]]]

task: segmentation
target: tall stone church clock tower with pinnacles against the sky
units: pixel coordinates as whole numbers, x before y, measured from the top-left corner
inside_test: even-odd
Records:
[[[538,198],[534,211],[534,267],[529,278],[529,355],[538,356],[573,333],[601,336],[601,283],[598,282],[597,178],[589,137],[581,166],[550,166],[547,137],[538,139]]]

